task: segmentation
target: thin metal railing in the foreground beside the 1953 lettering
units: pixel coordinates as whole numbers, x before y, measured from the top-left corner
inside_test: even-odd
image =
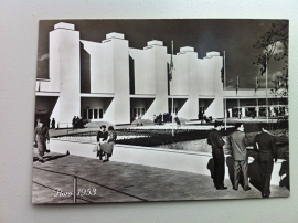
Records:
[[[43,168],[39,168],[39,167],[33,167],[33,168],[34,168],[34,169],[39,169],[39,170],[43,170],[43,171],[47,171],[47,172],[52,172],[52,173],[57,173],[57,174],[62,174],[62,176],[68,176],[68,177],[72,177],[72,178],[73,178],[73,183],[74,183],[74,185],[73,185],[73,203],[77,203],[77,199],[83,200],[83,201],[86,201],[86,202],[89,202],[89,203],[94,203],[94,202],[88,201],[88,200],[85,200],[85,199],[83,199],[83,198],[77,198],[77,179],[81,179],[81,180],[84,180],[84,181],[86,181],[86,182],[93,183],[93,184],[95,184],[95,185],[99,185],[99,187],[102,187],[102,188],[105,188],[105,189],[115,191],[115,192],[117,192],[117,193],[121,193],[121,194],[127,195],[127,197],[130,197],[130,198],[138,199],[138,200],[140,200],[140,201],[148,201],[148,200],[146,200],[146,199],[142,199],[142,198],[139,198],[139,197],[136,197],[136,195],[132,195],[132,194],[129,194],[129,193],[126,193],[126,192],[123,192],[123,191],[118,191],[118,190],[116,190],[116,189],[109,188],[109,187],[107,187],[107,185],[103,185],[103,184],[100,184],[100,183],[91,181],[91,180],[88,180],[88,179],[81,178],[81,177],[77,176],[76,172],[74,172],[74,174],[70,174],[70,173],[57,172],[57,171],[54,171],[54,170],[47,170],[47,169],[43,169]],[[39,182],[35,182],[35,181],[32,181],[32,182],[33,182],[33,183],[36,183],[36,184],[39,184],[39,185],[41,185],[41,187],[47,188],[47,189],[50,189],[50,190],[56,191],[56,189],[53,189],[53,188],[47,187],[47,185],[44,185],[44,184],[42,184],[42,183],[39,183]]]

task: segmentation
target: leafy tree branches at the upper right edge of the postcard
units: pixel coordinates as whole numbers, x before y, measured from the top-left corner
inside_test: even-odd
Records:
[[[253,45],[253,47],[263,51],[263,54],[255,56],[256,61],[253,63],[259,67],[260,75],[266,72],[272,59],[284,62],[281,75],[273,79],[275,87],[272,93],[276,96],[278,103],[280,100],[285,103],[286,109],[288,109],[288,21],[272,23],[270,29]]]

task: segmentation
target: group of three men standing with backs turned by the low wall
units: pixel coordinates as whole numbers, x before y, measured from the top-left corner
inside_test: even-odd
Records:
[[[262,124],[260,124],[262,125]],[[214,160],[213,182],[216,190],[226,190],[224,185],[225,174],[225,157],[223,146],[225,141],[221,135],[223,124],[221,121],[214,123],[214,129],[209,134],[207,144],[212,147],[212,157]],[[248,155],[247,146],[248,138],[244,132],[244,125],[237,123],[235,125],[236,131],[228,136],[227,144],[232,148],[232,156],[234,162],[234,180],[233,189],[238,190],[240,173],[243,173],[243,189],[251,190],[248,184]],[[258,150],[258,166],[259,176],[262,180],[262,197],[269,198],[270,195],[270,177],[273,172],[274,161],[277,161],[276,141],[274,136],[262,125],[262,132],[258,134],[254,141],[254,148]]]

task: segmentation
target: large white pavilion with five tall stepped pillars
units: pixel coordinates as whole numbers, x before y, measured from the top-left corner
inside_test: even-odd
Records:
[[[193,47],[181,47],[172,57],[170,83],[171,55],[162,41],[132,49],[124,34],[113,32],[102,43],[91,42],[79,39],[74,24],[61,22],[50,32],[49,44],[49,78],[36,78],[35,116],[55,118],[60,127],[71,125],[74,116],[114,125],[130,124],[138,114],[152,120],[171,112],[172,97],[174,112],[184,119],[198,119],[200,112],[223,118],[225,99],[231,116],[238,109],[243,117],[266,116],[266,89],[224,91],[219,52],[198,59]],[[91,62],[86,77],[81,74],[82,44]],[[268,91],[267,97],[270,115],[276,115],[275,96]]]

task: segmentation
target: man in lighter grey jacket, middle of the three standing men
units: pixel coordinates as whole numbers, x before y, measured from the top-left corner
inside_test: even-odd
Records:
[[[238,190],[240,173],[243,172],[244,191],[251,190],[248,185],[248,155],[246,147],[248,146],[248,138],[244,132],[242,123],[235,125],[236,131],[228,136],[230,145],[232,147],[232,155],[234,159],[234,184],[233,189]]]

